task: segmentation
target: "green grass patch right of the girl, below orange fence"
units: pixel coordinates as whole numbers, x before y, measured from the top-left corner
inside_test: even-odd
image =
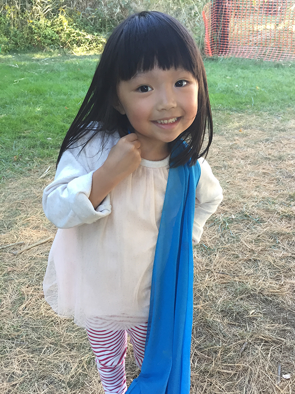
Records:
[[[214,109],[284,114],[295,108],[295,63],[207,59],[205,65]]]

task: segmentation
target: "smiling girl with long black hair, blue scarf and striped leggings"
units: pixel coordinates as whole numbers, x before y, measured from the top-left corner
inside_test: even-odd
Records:
[[[45,298],[87,329],[107,394],[127,390],[127,333],[142,367],[128,393],[189,393],[192,241],[222,200],[202,158],[211,140],[190,34],[159,12],[127,18],[107,41],[43,197],[59,228]]]

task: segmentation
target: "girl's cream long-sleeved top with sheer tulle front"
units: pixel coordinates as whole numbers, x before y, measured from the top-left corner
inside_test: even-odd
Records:
[[[44,278],[46,300],[82,327],[124,329],[148,320],[152,265],[169,174],[169,158],[142,159],[94,209],[92,174],[118,142],[99,135],[81,151],[66,150],[43,208],[59,230]],[[80,152],[81,151],[81,152]],[[199,160],[193,242],[222,200],[222,189],[206,160]],[[177,191],[176,191],[177,193]]]

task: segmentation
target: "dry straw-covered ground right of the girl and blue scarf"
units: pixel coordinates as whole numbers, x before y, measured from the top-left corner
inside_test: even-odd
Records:
[[[295,124],[221,117],[208,160],[225,198],[195,249],[193,393],[292,393]],[[277,384],[279,364],[291,381]]]

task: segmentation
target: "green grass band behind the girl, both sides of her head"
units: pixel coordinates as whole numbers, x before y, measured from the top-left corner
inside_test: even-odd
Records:
[[[3,176],[55,160],[88,90],[98,55],[0,56],[0,168]],[[289,116],[295,64],[205,60],[213,110]]]

